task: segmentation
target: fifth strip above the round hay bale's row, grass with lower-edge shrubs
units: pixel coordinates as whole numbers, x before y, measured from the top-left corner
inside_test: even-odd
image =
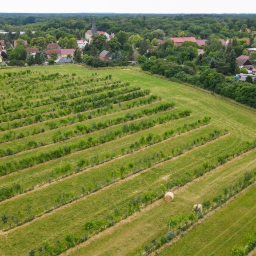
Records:
[[[116,126],[121,123],[140,120],[146,116],[154,117],[154,116],[157,116],[157,114],[166,113],[171,109],[174,109],[174,106],[171,105],[171,103],[160,102],[160,103],[153,103],[151,105],[146,105],[146,106],[139,106],[135,109],[114,111],[106,115],[100,115],[94,118],[85,119],[84,121],[80,121],[80,122],[78,121],[65,126],[59,126],[59,127],[56,127],[55,129],[45,129],[44,134],[34,134],[34,135],[29,135],[28,137],[22,137],[19,139],[18,142],[22,143],[23,145],[26,145],[27,143],[31,142],[31,138],[33,138],[34,141],[37,140],[38,143],[40,142],[42,146],[49,145],[50,143],[61,141],[61,139],[58,139],[58,140],[56,138],[54,139],[54,134],[57,134],[58,136],[55,136],[55,137],[58,138],[59,135],[61,134],[64,135],[65,133],[67,133],[67,131],[71,133],[71,130],[72,130],[73,133],[68,135],[69,137],[74,138],[74,137],[78,137],[79,135],[83,135],[85,133],[89,134],[89,133],[92,133],[93,131],[103,130],[107,127]],[[26,129],[28,129],[27,126],[23,128],[24,131],[26,131]],[[33,127],[29,127],[29,129],[33,129]],[[41,127],[39,127],[39,129],[41,129]],[[70,129],[70,130],[67,130],[67,129]],[[45,138],[45,133],[47,133],[47,138]],[[67,139],[69,138],[66,138],[65,141],[67,141]],[[6,150],[8,147],[11,147],[11,151],[13,151],[13,153],[5,154],[5,155],[15,154],[15,151],[14,151],[15,143],[17,143],[17,140],[15,141],[10,140],[8,142],[2,143],[1,145],[2,150]],[[23,146],[23,149],[21,148],[21,145],[19,145],[18,147],[19,151],[25,151],[30,148],[34,149],[35,145],[31,145],[29,148],[26,148],[25,146]]]

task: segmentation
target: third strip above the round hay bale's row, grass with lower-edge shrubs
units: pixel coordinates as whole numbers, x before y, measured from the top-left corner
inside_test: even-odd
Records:
[[[57,177],[57,178],[55,175],[58,175],[59,172],[57,172],[54,175],[55,170],[51,169],[50,166],[45,167],[45,170],[47,170],[48,175],[51,178],[51,181],[49,181],[49,179],[47,179],[46,182],[49,184],[50,182],[53,182],[56,179],[59,181],[62,178],[65,178],[69,175],[73,175],[73,174],[77,173],[77,171],[75,171],[75,169],[78,166],[80,168],[82,166],[85,166],[85,167],[82,167],[82,169],[81,169],[81,171],[84,171],[85,169],[89,169],[90,166],[95,166],[95,165],[99,165],[102,163],[106,163],[108,161],[113,161],[113,158],[117,159],[119,157],[125,157],[126,154],[133,153],[134,151],[142,151],[145,149],[145,147],[153,146],[162,141],[167,141],[167,140],[172,139],[173,137],[176,137],[180,134],[191,132],[193,130],[200,129],[202,126],[207,125],[207,119],[203,122],[199,122],[199,121],[197,120],[196,122],[189,123],[189,125],[187,125],[185,123],[183,126],[178,126],[178,122],[177,122],[177,123],[173,124],[173,129],[165,130],[162,133],[162,135],[154,134],[154,133],[152,133],[152,132],[154,132],[154,130],[152,130],[150,134],[154,134],[154,135],[150,142],[141,140],[142,138],[145,138],[145,136],[143,134],[141,134],[141,137],[139,138],[139,142],[135,141],[135,139],[138,138],[138,136],[134,139],[133,138],[134,136],[132,136],[134,134],[130,134],[130,135],[127,135],[126,137],[122,137],[122,138],[115,140],[114,143],[106,142],[104,146],[98,146],[97,149],[89,148],[86,150],[87,151],[87,154],[86,154],[87,159],[91,159],[90,162],[88,161],[88,163],[90,163],[89,166],[85,166],[85,164],[83,164],[83,165],[79,164],[79,162],[81,162],[81,159],[84,159],[84,158],[81,158],[78,161],[78,163],[75,163],[73,161],[73,163],[70,164],[69,170],[65,170],[65,174],[63,174],[61,177]],[[157,138],[155,138],[156,136],[157,136]],[[149,138],[149,134],[147,134],[146,138]],[[134,142],[132,141],[132,139]],[[126,147],[122,147],[122,148],[120,147],[121,141],[122,141],[123,145],[126,145]],[[125,142],[125,141],[127,141],[127,142]],[[111,144],[111,145],[108,145],[108,144]],[[101,147],[102,147],[102,149],[101,149]],[[109,153],[99,155],[98,152],[103,151],[103,149],[108,149]],[[98,161],[92,162],[92,159],[98,159]],[[65,162],[67,162],[67,161],[69,161],[69,159],[66,159]],[[63,161],[61,161],[61,162],[62,162],[61,165],[65,166],[65,165],[63,165],[64,162]],[[83,162],[81,162],[81,163],[83,163]],[[73,170],[74,170],[74,172],[73,172]],[[70,173],[68,171],[70,171]],[[61,175],[61,172],[59,175]],[[25,185],[33,187],[33,188],[37,187],[37,189],[40,186],[45,185],[45,182],[43,182],[41,185],[39,185],[38,183],[31,184],[31,181],[33,181],[31,176],[32,176],[31,172],[29,173],[28,171],[23,171],[22,173],[20,171],[18,171],[16,173],[12,173],[11,175],[5,175],[4,177],[0,178],[0,187],[3,190],[4,187],[5,188],[11,187],[15,182],[16,184],[19,184],[19,186],[20,186],[19,193],[24,193],[21,188],[24,187]],[[38,171],[37,171],[36,182],[38,182]],[[25,190],[25,192],[26,192],[26,190]],[[18,191],[13,191],[13,194],[17,194],[17,193],[18,193]]]

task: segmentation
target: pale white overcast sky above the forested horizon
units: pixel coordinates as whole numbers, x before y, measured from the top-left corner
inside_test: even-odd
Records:
[[[248,2],[249,3],[249,2]],[[13,0],[0,13],[255,13],[256,9],[241,1],[202,0]]]

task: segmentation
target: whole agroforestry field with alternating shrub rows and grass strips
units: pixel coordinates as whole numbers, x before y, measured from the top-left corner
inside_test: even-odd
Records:
[[[76,65],[0,70],[0,98],[0,255],[253,250],[254,109]]]

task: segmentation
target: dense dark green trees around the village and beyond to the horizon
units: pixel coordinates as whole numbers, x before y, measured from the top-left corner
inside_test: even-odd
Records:
[[[107,40],[103,34],[94,34],[84,47],[83,55],[77,49],[77,39],[85,38],[95,19],[99,31],[115,33]],[[239,55],[249,55],[256,64],[256,54],[248,47],[256,46],[256,18],[251,14],[187,14],[187,15],[65,15],[65,14],[4,14],[0,17],[0,39],[5,40],[9,65],[40,64],[46,59],[42,50],[51,42],[58,42],[61,49],[76,49],[74,61],[94,67],[127,65],[139,61],[142,69],[153,74],[165,75],[175,81],[188,82],[207,90],[233,98],[255,107],[255,85],[251,77],[241,82],[226,81],[224,75],[247,73],[237,65]],[[20,31],[23,31],[22,34]],[[186,41],[174,43],[170,37],[205,39],[199,44]],[[164,39],[164,41],[158,41]],[[228,45],[225,43],[229,39]],[[16,41],[17,47],[11,47]],[[27,41],[27,45],[25,45]],[[159,44],[159,42],[161,42]],[[34,58],[26,48],[38,47]],[[101,61],[99,53],[111,51],[111,61]],[[203,50],[203,51],[201,51]],[[200,52],[201,51],[201,52]],[[200,53],[199,53],[200,52]],[[51,54],[53,59],[57,54]],[[50,61],[54,63],[51,59]],[[234,83],[233,83],[234,82]],[[250,95],[249,95],[250,94]]]

